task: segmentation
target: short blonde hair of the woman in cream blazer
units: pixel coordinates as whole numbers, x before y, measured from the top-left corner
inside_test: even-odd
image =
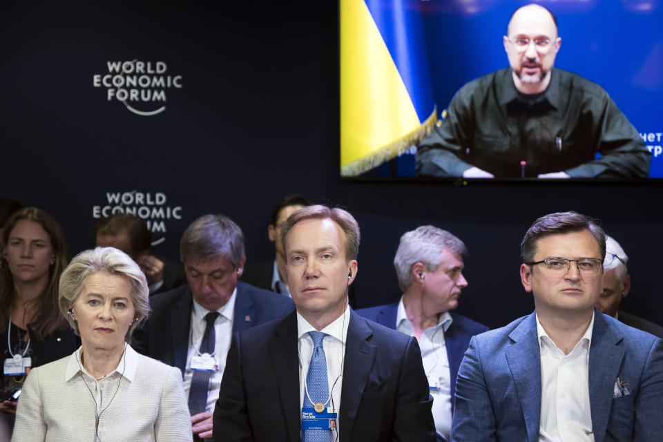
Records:
[[[64,317],[67,318],[71,328],[74,329],[74,333],[80,336],[78,323],[71,318],[68,311],[80,296],[85,280],[95,273],[121,276],[131,287],[130,293],[127,295],[133,303],[135,319],[126,333],[125,339],[128,340],[133,330],[147,318],[150,312],[148,301],[150,290],[147,286],[145,274],[136,262],[123,251],[115,249],[115,247],[97,247],[96,249],[81,251],[71,260],[60,276],[58,307]]]

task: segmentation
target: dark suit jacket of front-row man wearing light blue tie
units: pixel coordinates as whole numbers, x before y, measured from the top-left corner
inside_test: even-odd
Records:
[[[228,352],[215,441],[300,441],[297,316],[242,332]],[[432,398],[416,339],[351,311],[340,442],[435,441]]]

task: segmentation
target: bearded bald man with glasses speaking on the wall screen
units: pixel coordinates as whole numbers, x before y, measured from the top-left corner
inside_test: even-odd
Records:
[[[516,10],[503,37],[510,67],[465,84],[419,144],[418,175],[492,178],[647,177],[644,142],[606,91],[553,68],[557,19]]]

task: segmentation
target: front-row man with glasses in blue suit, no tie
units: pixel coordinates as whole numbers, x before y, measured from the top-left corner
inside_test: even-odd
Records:
[[[470,341],[452,441],[660,441],[663,342],[595,309],[602,229],[575,212],[545,215],[521,253],[535,312]]]

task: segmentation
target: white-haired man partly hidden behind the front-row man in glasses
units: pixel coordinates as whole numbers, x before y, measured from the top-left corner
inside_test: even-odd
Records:
[[[628,256],[619,242],[606,235],[606,260],[603,262],[603,291],[596,308],[608,316],[622,321],[626,325],[635,327],[663,338],[663,327],[649,322],[626,311],[619,310],[622,298],[628,296],[631,290],[631,275],[626,268]]]

